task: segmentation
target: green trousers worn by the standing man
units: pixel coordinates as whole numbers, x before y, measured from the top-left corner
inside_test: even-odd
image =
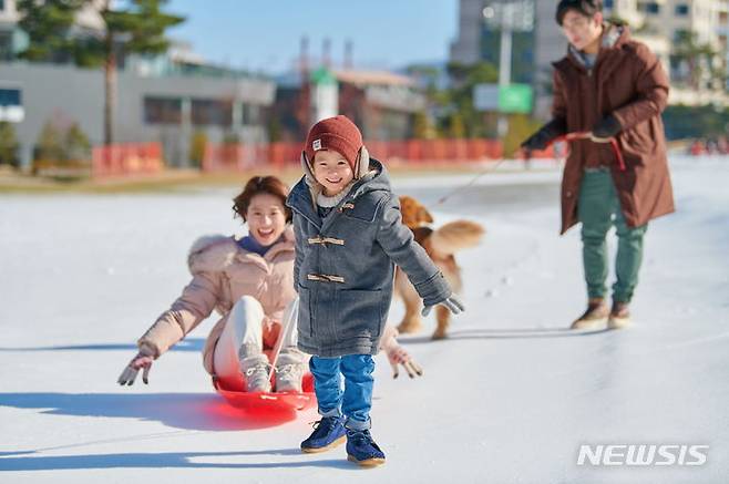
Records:
[[[615,225],[618,238],[613,300],[629,302],[638,284],[643,260],[643,236],[648,225],[630,228],[625,223],[610,172],[586,171],[579,186],[577,216],[582,223],[583,265],[587,297],[605,298],[607,288],[606,236]]]

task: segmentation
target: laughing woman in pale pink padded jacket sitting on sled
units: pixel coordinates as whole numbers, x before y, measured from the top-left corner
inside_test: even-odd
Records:
[[[140,351],[117,382],[133,384],[140,369],[148,382],[152,362],[187,336],[213,310],[220,319],[203,350],[203,364],[218,387],[232,391],[271,391],[268,378],[273,349],[280,352],[274,368],[276,391],[301,391],[308,356],[297,347],[297,331],[281,333],[281,321],[296,322],[294,290],[295,241],[291,213],[285,206],[288,187],[275,176],[255,176],[234,198],[233,209],[248,225],[240,239],[202,237],[189,251],[192,281],[172,307],[137,341]],[[398,375],[422,374],[398,344],[397,331],[386,328],[381,348]]]

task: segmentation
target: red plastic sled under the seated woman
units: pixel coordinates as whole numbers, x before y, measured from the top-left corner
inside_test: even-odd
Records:
[[[301,393],[297,392],[240,392],[222,388],[217,381],[213,382],[215,391],[220,394],[229,405],[247,411],[291,411],[306,410],[312,406],[317,398],[314,394],[314,377],[306,373],[301,380]]]

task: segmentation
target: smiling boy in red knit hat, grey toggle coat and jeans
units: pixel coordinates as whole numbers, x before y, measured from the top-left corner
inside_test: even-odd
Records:
[[[301,451],[322,452],[346,439],[350,461],[379,465],[384,453],[369,432],[372,356],[392,300],[394,264],[423,298],[423,315],[439,303],[453,313],[463,306],[401,224],[388,173],[370,159],[355,123],[336,116],[315,124],[301,165],[305,176],[287,200],[296,235],[298,348],[312,356],[321,414]]]

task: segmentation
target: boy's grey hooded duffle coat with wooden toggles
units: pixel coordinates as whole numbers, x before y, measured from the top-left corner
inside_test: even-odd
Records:
[[[357,182],[321,219],[306,177],[286,205],[294,212],[299,294],[299,349],[325,358],[376,354],[392,301],[394,264],[425,305],[442,302],[451,288],[425,250],[402,225],[387,171],[370,161],[374,176]]]

